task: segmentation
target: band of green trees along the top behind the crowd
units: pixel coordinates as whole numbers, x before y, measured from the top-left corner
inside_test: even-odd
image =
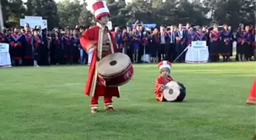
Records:
[[[53,26],[74,27],[88,25],[94,19],[88,11],[86,1],[79,0],[59,2],[54,0],[1,0],[4,20],[19,22],[24,15],[42,16],[48,20],[50,28]],[[229,23],[237,26],[241,21],[256,22],[256,1],[251,0],[133,0],[126,5],[125,0],[107,0],[112,23],[124,26],[142,20],[143,23],[177,24],[192,23],[194,25],[208,25],[210,20],[217,20],[219,24]]]

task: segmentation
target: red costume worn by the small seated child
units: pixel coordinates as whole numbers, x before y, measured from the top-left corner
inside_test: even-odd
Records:
[[[168,82],[173,81],[171,76],[168,76],[165,78],[164,76],[158,76],[158,78],[155,80],[155,98],[157,101],[163,101],[164,100],[164,95],[163,91],[161,90],[161,86],[167,84]]]

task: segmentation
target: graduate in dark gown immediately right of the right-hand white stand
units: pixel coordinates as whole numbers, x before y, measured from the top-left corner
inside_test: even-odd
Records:
[[[218,25],[214,24],[213,30],[210,31],[210,61],[219,61],[220,39]]]

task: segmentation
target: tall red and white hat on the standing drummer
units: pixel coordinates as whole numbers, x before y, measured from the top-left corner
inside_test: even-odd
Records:
[[[98,20],[102,16],[110,16],[110,11],[107,8],[107,2],[98,0],[92,5],[94,11],[94,17]]]

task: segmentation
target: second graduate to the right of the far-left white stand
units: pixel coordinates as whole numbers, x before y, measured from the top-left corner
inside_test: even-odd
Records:
[[[24,43],[24,64],[25,65],[32,65],[33,64],[33,48],[31,44],[31,38],[33,34],[31,33],[29,24],[26,24],[24,26],[24,37],[25,37],[25,43]]]

